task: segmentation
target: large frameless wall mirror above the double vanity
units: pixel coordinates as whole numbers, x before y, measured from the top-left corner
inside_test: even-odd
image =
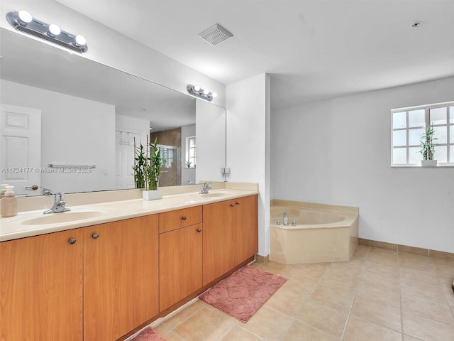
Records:
[[[0,44],[0,181],[17,195],[134,188],[134,141],[155,138],[160,187],[225,180],[226,109],[4,28]]]

